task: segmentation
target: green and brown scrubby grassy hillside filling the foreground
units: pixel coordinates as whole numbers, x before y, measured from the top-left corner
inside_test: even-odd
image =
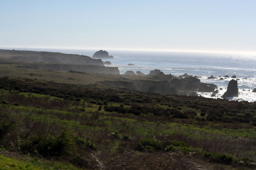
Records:
[[[0,168],[256,168],[255,110],[248,102],[3,77],[0,147],[28,157],[2,151]]]

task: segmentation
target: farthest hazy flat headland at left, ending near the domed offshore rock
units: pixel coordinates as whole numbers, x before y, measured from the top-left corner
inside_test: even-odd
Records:
[[[0,50],[0,56],[7,59],[23,61],[104,66],[101,59],[92,59],[85,55],[52,53],[45,51]]]

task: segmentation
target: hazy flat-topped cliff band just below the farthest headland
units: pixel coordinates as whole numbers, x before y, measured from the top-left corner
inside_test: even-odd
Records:
[[[24,64],[18,65],[20,68],[32,68],[38,70],[60,70],[69,71],[75,70],[80,72],[94,72],[104,74],[120,74],[118,67],[105,67],[96,65],[85,65],[85,64],[51,64],[51,63],[35,63],[35,64]]]

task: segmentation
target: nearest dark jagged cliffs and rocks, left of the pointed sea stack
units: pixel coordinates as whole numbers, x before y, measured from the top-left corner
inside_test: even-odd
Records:
[[[102,85],[112,87],[123,87],[129,90],[138,90],[140,92],[151,92],[159,94],[179,94],[187,96],[196,96],[196,92],[214,92],[217,86],[214,84],[201,83],[198,78],[173,78],[172,74],[160,72],[152,76],[155,80],[128,80],[122,81],[104,81]]]

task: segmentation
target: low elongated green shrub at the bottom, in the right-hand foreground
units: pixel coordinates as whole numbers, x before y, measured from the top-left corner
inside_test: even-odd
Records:
[[[205,152],[204,157],[208,158],[210,162],[218,162],[218,163],[224,163],[224,164],[230,164],[234,161],[234,157],[228,154]]]

